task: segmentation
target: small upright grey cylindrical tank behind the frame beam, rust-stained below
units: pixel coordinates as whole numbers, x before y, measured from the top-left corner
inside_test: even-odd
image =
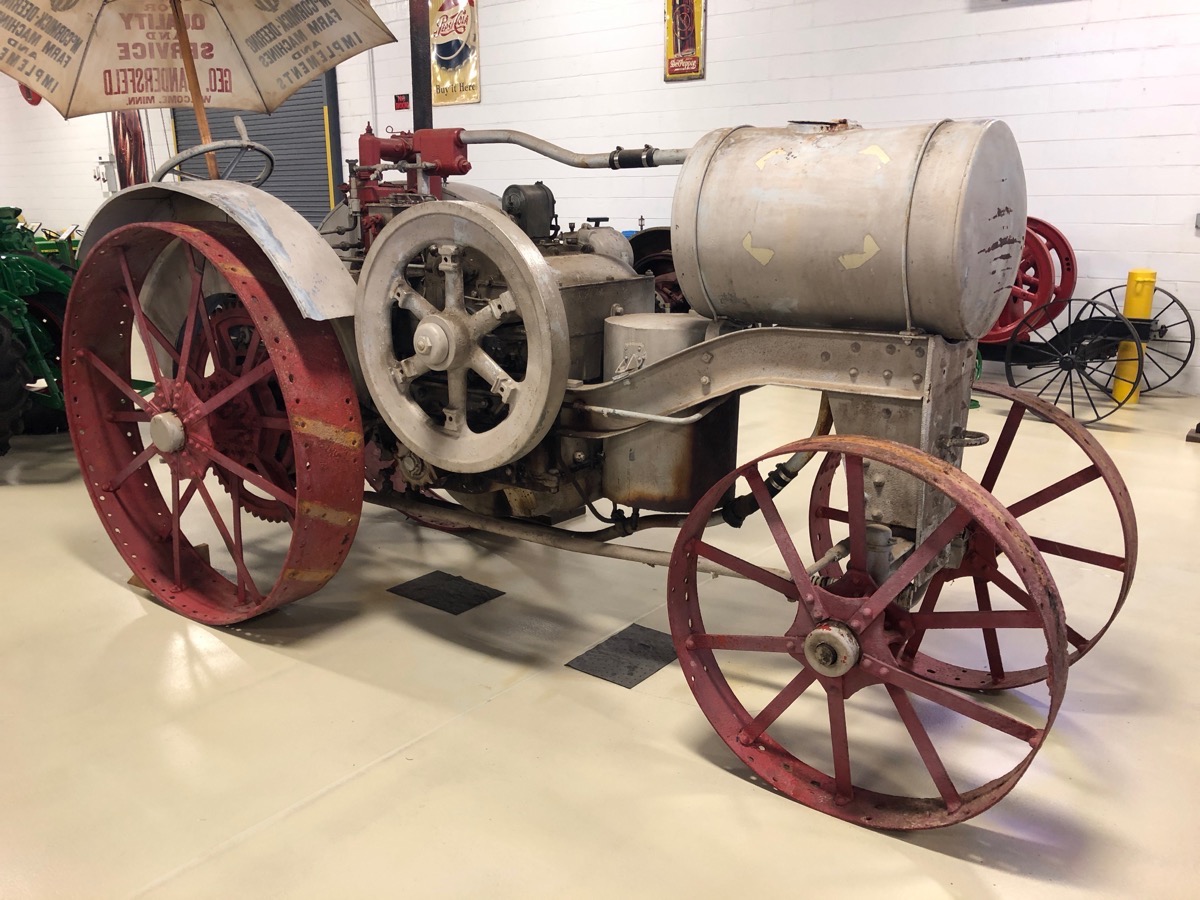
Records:
[[[704,340],[710,323],[691,313],[605,320],[604,370],[612,380]],[[737,458],[738,398],[692,425],[647,424],[605,440],[604,496],[638,509],[686,512]]]

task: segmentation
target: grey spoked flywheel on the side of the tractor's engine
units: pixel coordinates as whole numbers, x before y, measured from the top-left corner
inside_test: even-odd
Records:
[[[354,320],[379,414],[424,460],[478,473],[524,456],[566,391],[558,278],[503,212],[440,202],[371,246]]]

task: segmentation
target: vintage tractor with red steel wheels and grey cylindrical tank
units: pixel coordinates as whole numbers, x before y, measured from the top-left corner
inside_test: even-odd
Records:
[[[484,143],[680,164],[671,244],[692,311],[655,312],[629,241],[563,230],[541,182],[449,184]],[[592,155],[368,128],[359,155],[320,234],[227,181],[133,187],[88,227],[71,431],[160,602],[230,624],[314,593],[366,480],[418,523],[667,566],[696,701],[800,803],[931,828],[1013,787],[1129,589],[1136,527],[1096,440],[1021,391],[980,389],[994,440],[978,479],[961,468],[986,440],[966,427],[976,341],[1025,230],[1002,122],[740,127]],[[739,464],[739,398],[764,385],[822,391],[817,427]],[[1010,472],[1014,444],[1048,434],[1076,462]],[[1072,499],[1111,512],[1112,546],[1050,515]],[[553,524],[582,508],[604,527]],[[661,527],[679,529],[672,553],[625,540]],[[1066,606],[1048,559],[1078,589]]]

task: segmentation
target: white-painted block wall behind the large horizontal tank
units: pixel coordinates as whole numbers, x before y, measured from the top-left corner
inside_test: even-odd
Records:
[[[484,102],[438,107],[434,125],[599,151],[787,119],[1002,118],[1021,143],[1031,214],[1079,253],[1076,295],[1150,266],[1200,318],[1198,0],[710,0],[708,77],[670,85],[662,6],[479,0]],[[412,127],[392,109],[410,91],[408,4],[374,7],[401,43],[373,52],[374,85],[365,56],[338,68],[347,156],[367,119]],[[564,222],[668,221],[671,169],[580,172],[516,148],[470,156],[470,181],[493,191],[545,180]],[[1200,394],[1200,359],[1176,385]]]

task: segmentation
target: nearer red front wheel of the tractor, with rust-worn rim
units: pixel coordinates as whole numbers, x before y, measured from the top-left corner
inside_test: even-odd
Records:
[[[803,514],[776,503],[760,470],[764,460],[799,451],[841,457],[851,497],[863,497],[864,470],[898,469],[937,494],[949,515],[877,583],[868,574],[864,504],[851,504],[847,572],[826,587],[814,584],[785,521]],[[757,523],[767,541],[752,545],[755,562],[746,558],[751,546],[746,534],[737,534],[737,548],[719,546],[720,532],[706,534],[714,506],[738,480],[746,482],[762,509],[762,516],[748,522]],[[1006,568],[1022,599],[1020,608],[907,612],[901,599],[913,578],[953,552],[967,528],[992,542],[997,565]],[[748,581],[698,582],[698,557]],[[786,574],[764,566],[775,559]],[[1016,784],[1062,701],[1066,634],[1058,608],[1037,547],[991,494],[918,450],[857,437],[800,440],[718,482],[679,534],[667,596],[688,684],[743,762],[799,803],[888,829],[960,822],[995,804]],[[1031,704],[1018,716],[1012,704],[1004,712],[940,684],[950,677],[949,666],[922,653],[904,656],[907,637],[920,630],[984,625],[1021,630],[1030,652],[1040,652],[1048,667],[1044,688],[1038,689],[1045,691],[1044,703]],[[823,698],[814,685],[823,690]]]

